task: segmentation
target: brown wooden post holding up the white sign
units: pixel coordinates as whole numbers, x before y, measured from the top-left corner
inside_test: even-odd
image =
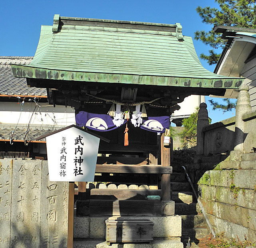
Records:
[[[74,231],[74,182],[69,182],[68,193],[68,248],[73,248]]]

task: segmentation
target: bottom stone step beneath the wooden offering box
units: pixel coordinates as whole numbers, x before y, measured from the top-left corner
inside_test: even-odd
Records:
[[[104,240],[74,240],[73,248],[183,248],[180,240],[154,240],[150,243],[111,243],[108,246]]]

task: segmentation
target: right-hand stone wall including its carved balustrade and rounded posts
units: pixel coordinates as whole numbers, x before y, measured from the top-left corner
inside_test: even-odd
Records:
[[[190,176],[216,233],[256,242],[256,111],[248,86],[239,89],[235,117],[208,125],[205,109]]]

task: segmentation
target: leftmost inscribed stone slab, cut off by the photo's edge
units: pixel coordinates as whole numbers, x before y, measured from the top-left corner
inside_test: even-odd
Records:
[[[12,160],[0,161],[0,248],[10,246]]]

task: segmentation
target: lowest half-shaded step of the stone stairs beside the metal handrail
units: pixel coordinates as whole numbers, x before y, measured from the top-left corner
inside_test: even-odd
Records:
[[[191,242],[199,238],[204,238],[210,234],[210,229],[206,227],[182,228],[182,242],[186,242],[189,237]]]

